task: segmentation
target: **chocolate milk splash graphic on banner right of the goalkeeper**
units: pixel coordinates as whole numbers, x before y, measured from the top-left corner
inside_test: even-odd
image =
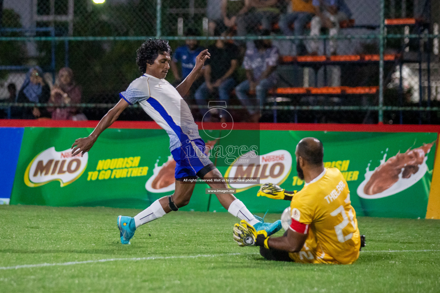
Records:
[[[380,165],[373,171],[370,171],[370,163],[368,164],[365,180],[357,188],[358,195],[365,199],[377,199],[409,188],[428,170],[426,155],[432,147],[433,143],[423,144],[404,153],[398,152],[386,161],[385,152]]]

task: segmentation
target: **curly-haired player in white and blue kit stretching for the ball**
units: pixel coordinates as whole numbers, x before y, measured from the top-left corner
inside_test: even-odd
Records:
[[[184,178],[223,179],[220,171],[205,156],[205,142],[198,134],[198,126],[187,103],[182,99],[210,56],[208,50],[198,54],[194,69],[182,83],[174,88],[165,76],[170,68],[171,47],[166,40],[150,39],[137,50],[136,63],[143,73],[134,80],[126,91],[119,94],[119,102],[99,121],[95,130],[84,138],[78,138],[72,145],[72,155],[81,156],[92,148],[99,134],[109,127],[128,105],[139,102],[143,110],[158,123],[170,137],[170,151],[176,161],[176,188],[172,195],[164,196],[135,217],[117,217],[121,232],[121,243],[129,244],[136,229],[166,213],[186,206],[191,198],[195,183],[183,183]],[[220,183],[207,182],[211,188],[227,188]],[[222,206],[233,216],[246,220],[257,230],[265,230],[271,235],[281,229],[281,221],[264,223],[260,217],[249,212],[246,206],[232,194],[216,194]]]

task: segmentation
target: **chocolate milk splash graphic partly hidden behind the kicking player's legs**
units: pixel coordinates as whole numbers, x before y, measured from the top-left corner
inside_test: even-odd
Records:
[[[205,154],[209,156],[210,151],[213,149],[214,145],[217,143],[217,139],[206,142],[207,148],[205,148]],[[159,159],[156,160],[153,169],[153,175],[148,178],[147,183],[145,183],[145,189],[149,192],[162,193],[170,192],[175,189],[175,178],[174,170],[176,169],[176,161],[172,156],[168,156],[168,160],[158,166]]]

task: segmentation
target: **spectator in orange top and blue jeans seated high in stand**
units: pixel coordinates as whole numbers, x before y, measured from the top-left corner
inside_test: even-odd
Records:
[[[312,0],[291,0],[292,12],[283,14],[279,20],[279,28],[286,36],[302,36],[308,22],[317,11]],[[290,26],[293,23],[293,30]],[[295,40],[297,56],[306,55],[307,49],[302,40]]]

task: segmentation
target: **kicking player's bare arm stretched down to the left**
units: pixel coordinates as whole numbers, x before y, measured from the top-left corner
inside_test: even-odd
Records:
[[[81,157],[88,152],[99,134],[101,134],[107,127],[110,127],[116,119],[121,115],[122,111],[128,107],[127,101],[124,99],[119,100],[119,102],[104,115],[103,119],[99,121],[98,125],[95,127],[95,130],[88,136],[83,138],[78,138],[72,145],[72,156],[76,156],[81,153]]]

